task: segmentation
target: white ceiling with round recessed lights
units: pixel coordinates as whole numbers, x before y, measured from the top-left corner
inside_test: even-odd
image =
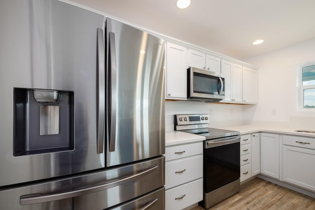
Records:
[[[239,60],[315,37],[315,0],[72,1]]]

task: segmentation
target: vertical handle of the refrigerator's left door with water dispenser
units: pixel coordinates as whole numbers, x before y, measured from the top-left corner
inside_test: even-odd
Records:
[[[105,118],[105,54],[103,30],[97,29],[97,138],[96,138],[96,152],[103,153],[104,146],[104,118]]]

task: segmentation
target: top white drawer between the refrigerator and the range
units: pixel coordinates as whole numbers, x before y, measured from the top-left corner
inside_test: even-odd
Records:
[[[165,161],[202,154],[203,142],[165,148]]]

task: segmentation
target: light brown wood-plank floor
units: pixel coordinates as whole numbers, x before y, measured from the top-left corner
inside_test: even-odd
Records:
[[[191,210],[204,210],[195,207]],[[315,210],[315,198],[255,178],[241,191],[208,210]]]

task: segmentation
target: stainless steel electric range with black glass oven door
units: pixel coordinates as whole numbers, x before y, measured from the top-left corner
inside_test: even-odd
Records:
[[[203,201],[205,208],[240,191],[240,132],[209,128],[209,115],[175,115],[174,129],[205,136]]]

